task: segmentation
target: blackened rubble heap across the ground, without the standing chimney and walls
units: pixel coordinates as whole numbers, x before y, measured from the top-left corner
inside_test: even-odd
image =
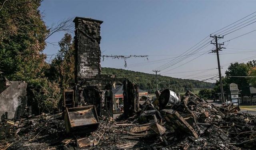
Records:
[[[190,91],[185,96],[175,96],[176,102],[166,106],[162,103],[163,96],[159,102],[144,98],[140,101],[140,112],[130,118],[121,115],[114,120],[99,116],[98,128],[83,134],[66,134],[62,114],[44,114],[18,122],[5,120],[0,127],[0,148],[241,150],[256,147],[256,116],[236,113],[239,108],[232,104],[221,107],[208,104]]]

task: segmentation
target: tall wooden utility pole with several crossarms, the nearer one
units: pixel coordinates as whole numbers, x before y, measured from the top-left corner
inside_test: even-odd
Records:
[[[224,45],[224,44],[220,44],[218,43],[218,39],[219,38],[223,38],[223,36],[210,36],[211,38],[214,38],[215,40],[215,43],[212,43],[211,44],[214,44],[216,46],[216,50],[212,50],[212,53],[216,53],[217,54],[217,61],[218,61],[218,70],[219,70],[219,78],[220,78],[220,91],[221,91],[221,102],[222,104],[225,103],[225,99],[224,99],[224,90],[223,90],[223,84],[222,84],[222,78],[221,78],[221,70],[220,70],[220,57],[219,57],[219,51],[221,51],[221,49],[223,47],[220,47],[220,45]]]

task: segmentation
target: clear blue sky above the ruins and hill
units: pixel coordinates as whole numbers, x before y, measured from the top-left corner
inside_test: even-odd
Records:
[[[103,54],[149,57],[148,60],[128,59],[128,68],[124,68],[124,61],[108,58],[101,62],[102,67],[153,73],[153,69],[168,63],[212,32],[255,12],[255,6],[256,1],[242,0],[44,0],[40,10],[47,26],[75,16],[104,21],[101,25],[100,44]],[[255,29],[256,23],[224,36],[220,42]],[[58,42],[63,35],[63,32],[54,34],[47,41]],[[214,69],[217,68],[216,54],[206,53],[200,56],[213,47],[214,45],[209,45],[198,54],[161,70],[160,74],[198,80],[214,76],[218,73]],[[227,49],[220,52],[222,74],[228,67],[224,64],[256,58],[256,32],[226,42],[224,47]],[[44,50],[46,54],[55,54],[57,51],[58,46],[50,44]],[[192,61],[188,62],[190,60]],[[188,63],[184,64],[186,62]]]

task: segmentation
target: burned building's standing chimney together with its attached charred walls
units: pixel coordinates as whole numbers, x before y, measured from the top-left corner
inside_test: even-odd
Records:
[[[113,116],[114,84],[124,84],[124,116],[139,110],[138,86],[126,78],[101,74],[100,25],[103,21],[76,17],[75,23],[75,102],[76,106],[95,105],[102,116]]]

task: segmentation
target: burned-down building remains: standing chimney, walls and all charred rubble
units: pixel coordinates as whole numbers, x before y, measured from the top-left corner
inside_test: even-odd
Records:
[[[256,117],[238,106],[216,107],[192,92],[156,92],[139,100],[138,86],[101,74],[100,24],[76,17],[75,82],[64,112],[0,122],[3,150],[241,150],[256,147]],[[124,113],[113,119],[112,87],[123,84]],[[71,102],[70,102],[71,101]],[[29,107],[28,107],[29,109]]]

